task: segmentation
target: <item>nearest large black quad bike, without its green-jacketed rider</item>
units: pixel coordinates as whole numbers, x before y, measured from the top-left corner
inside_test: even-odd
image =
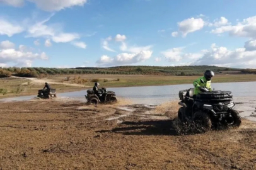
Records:
[[[202,80],[201,80],[202,81]],[[194,96],[194,88],[179,92],[182,107],[178,110],[178,119],[181,122],[195,122],[210,130],[212,125],[227,125],[239,127],[241,117],[234,110],[235,103],[231,91],[208,91]]]

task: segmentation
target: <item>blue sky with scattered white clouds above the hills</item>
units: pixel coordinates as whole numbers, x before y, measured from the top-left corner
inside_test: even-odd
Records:
[[[254,0],[0,0],[0,67],[256,68]]]

